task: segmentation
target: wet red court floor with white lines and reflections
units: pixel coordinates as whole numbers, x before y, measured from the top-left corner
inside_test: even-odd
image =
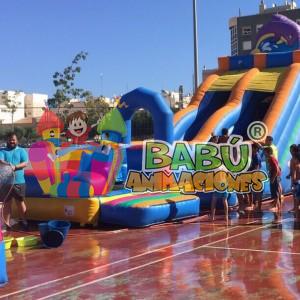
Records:
[[[284,210],[290,208],[286,201]],[[7,251],[0,299],[299,299],[300,224],[273,213],[145,229],[73,229]]]

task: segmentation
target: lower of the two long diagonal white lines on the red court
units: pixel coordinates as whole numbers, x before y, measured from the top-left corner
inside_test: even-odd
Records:
[[[285,219],[285,220],[283,220],[281,223],[283,223],[283,222],[285,222],[285,221],[288,221],[288,220],[293,220],[293,219]],[[95,284],[95,283],[99,283],[99,282],[101,282],[101,281],[104,281],[104,280],[109,279],[109,278],[112,278],[112,277],[116,277],[116,276],[123,275],[123,274],[129,273],[129,272],[132,272],[132,271],[135,271],[135,270],[138,270],[138,269],[142,269],[142,268],[144,268],[144,267],[147,267],[147,266],[150,266],[150,265],[153,265],[153,264],[162,262],[162,261],[167,260],[167,259],[170,259],[170,258],[174,258],[174,257],[180,256],[180,255],[183,255],[183,254],[187,254],[187,253],[193,252],[193,251],[195,251],[195,250],[198,250],[198,249],[201,249],[201,248],[205,248],[205,247],[207,247],[207,246],[210,246],[210,245],[213,245],[213,244],[222,242],[222,241],[227,241],[227,240],[229,240],[229,239],[232,239],[232,238],[235,238],[235,237],[238,237],[238,236],[241,236],[241,235],[245,235],[245,234],[247,234],[247,233],[251,233],[251,232],[257,231],[257,230],[259,230],[259,229],[263,229],[263,228],[266,228],[266,227],[270,227],[271,225],[274,225],[274,224],[272,224],[272,223],[271,223],[271,224],[266,224],[266,225],[264,225],[264,226],[260,226],[260,227],[254,228],[254,229],[245,231],[245,232],[243,232],[243,233],[238,233],[238,234],[232,235],[232,236],[230,236],[230,237],[223,238],[223,239],[218,240],[218,241],[215,241],[215,242],[207,243],[207,244],[205,244],[205,245],[201,245],[201,246],[199,246],[199,247],[195,247],[195,248],[190,249],[190,250],[186,250],[186,251],[183,251],[183,252],[179,252],[179,253],[174,254],[174,255],[169,255],[169,256],[166,256],[166,257],[164,257],[164,258],[157,259],[157,260],[154,260],[154,261],[152,261],[152,262],[149,262],[149,263],[146,263],[146,264],[142,264],[142,265],[139,265],[139,266],[134,267],[134,268],[130,268],[130,269],[127,269],[127,270],[124,270],[124,271],[121,271],[121,272],[118,272],[118,273],[115,273],[115,274],[106,276],[106,277],[102,277],[102,278],[99,278],[99,279],[95,279],[95,280],[92,280],[92,281],[90,281],[90,282],[87,282],[87,283],[84,283],[84,284],[80,284],[80,285],[74,286],[74,287],[72,287],[72,288],[68,288],[68,289],[62,290],[62,291],[57,292],[57,293],[50,294],[50,295],[48,295],[48,296],[39,298],[39,300],[49,299],[49,298],[52,298],[52,297],[55,297],[55,296],[59,296],[59,295],[62,295],[62,294],[65,294],[65,293],[74,291],[74,290],[78,290],[78,289],[80,289],[80,288],[83,288],[83,287],[86,287],[86,286],[89,286],[89,285],[92,285],[92,284]],[[237,228],[237,227],[239,227],[239,226],[236,226],[235,228]]]

